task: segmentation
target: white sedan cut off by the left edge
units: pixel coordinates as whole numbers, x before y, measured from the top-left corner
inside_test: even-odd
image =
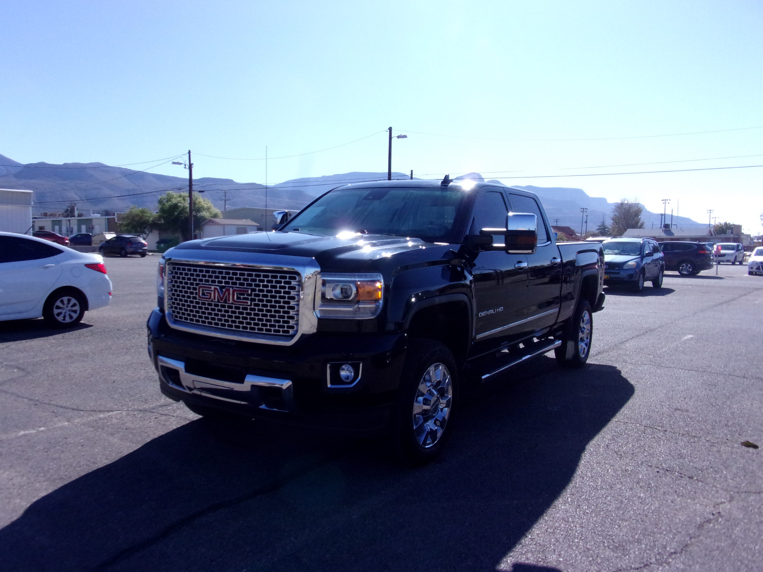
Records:
[[[87,310],[111,303],[101,255],[25,234],[0,233],[0,320],[43,317],[76,326]]]

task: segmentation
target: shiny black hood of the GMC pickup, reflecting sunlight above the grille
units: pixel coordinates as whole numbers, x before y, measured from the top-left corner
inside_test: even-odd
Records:
[[[328,272],[362,272],[380,266],[410,264],[443,258],[459,245],[437,245],[421,239],[379,234],[342,233],[337,236],[316,236],[304,233],[251,233],[191,240],[166,252],[166,256],[182,257],[182,251],[225,250],[262,252],[270,255],[306,256],[315,259]],[[393,262],[394,259],[394,262]]]

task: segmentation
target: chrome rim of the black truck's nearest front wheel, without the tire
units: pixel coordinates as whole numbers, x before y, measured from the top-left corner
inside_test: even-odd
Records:
[[[423,448],[439,441],[450,416],[453,386],[445,365],[431,365],[421,376],[414,399],[414,436]]]

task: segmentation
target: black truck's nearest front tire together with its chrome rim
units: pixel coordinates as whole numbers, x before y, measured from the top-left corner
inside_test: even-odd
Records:
[[[459,399],[456,358],[443,343],[411,339],[391,416],[391,452],[402,464],[432,461],[443,450]]]

